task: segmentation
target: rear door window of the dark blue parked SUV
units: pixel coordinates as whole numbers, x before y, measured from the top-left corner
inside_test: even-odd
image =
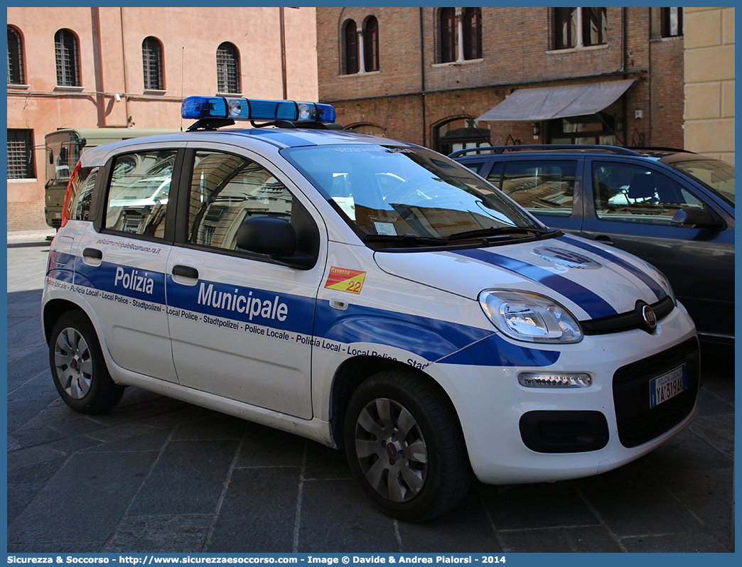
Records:
[[[510,161],[504,165],[502,181],[495,185],[528,212],[557,217],[572,214],[577,161]]]

